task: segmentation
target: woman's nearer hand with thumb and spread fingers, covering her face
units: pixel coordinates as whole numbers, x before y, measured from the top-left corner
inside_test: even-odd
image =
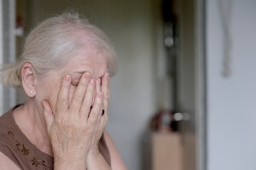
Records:
[[[49,103],[42,101],[55,165],[66,163],[84,169],[92,142],[102,135],[97,127],[102,122],[103,93],[96,94],[90,110],[95,84],[90,74],[84,73],[69,104],[71,77],[67,75],[61,82],[54,115]]]

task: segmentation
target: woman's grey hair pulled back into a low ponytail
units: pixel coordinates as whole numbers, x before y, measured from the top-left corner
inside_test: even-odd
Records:
[[[84,31],[88,34],[96,50],[107,57],[108,73],[113,76],[116,72],[116,56],[108,37],[79,14],[65,12],[44,20],[29,33],[20,59],[3,67],[3,85],[20,88],[21,68],[26,62],[33,65],[38,75],[44,75],[65,64],[69,56],[78,54],[83,48],[73,38],[74,31]]]

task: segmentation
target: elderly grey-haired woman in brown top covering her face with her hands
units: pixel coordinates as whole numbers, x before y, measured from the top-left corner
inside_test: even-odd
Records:
[[[104,130],[114,71],[108,38],[79,14],[39,24],[2,73],[27,99],[0,118],[1,169],[126,169]]]

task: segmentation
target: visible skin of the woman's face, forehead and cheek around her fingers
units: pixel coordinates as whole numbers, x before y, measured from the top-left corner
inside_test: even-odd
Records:
[[[90,73],[90,78],[97,80],[104,76],[108,71],[106,57],[99,53],[93,46],[86,46],[86,48],[77,56],[68,59],[67,65],[49,71],[49,73],[38,79],[38,86],[36,89],[36,99],[38,105],[43,99],[47,99],[55,113],[55,104],[57,95],[61,87],[61,81],[67,74],[71,76],[72,86],[70,88],[69,101],[73,98],[73,94],[79,84],[80,77],[84,72]]]

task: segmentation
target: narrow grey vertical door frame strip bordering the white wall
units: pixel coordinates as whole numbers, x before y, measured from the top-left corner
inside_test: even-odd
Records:
[[[195,1],[195,104],[198,170],[207,170],[206,1]]]

